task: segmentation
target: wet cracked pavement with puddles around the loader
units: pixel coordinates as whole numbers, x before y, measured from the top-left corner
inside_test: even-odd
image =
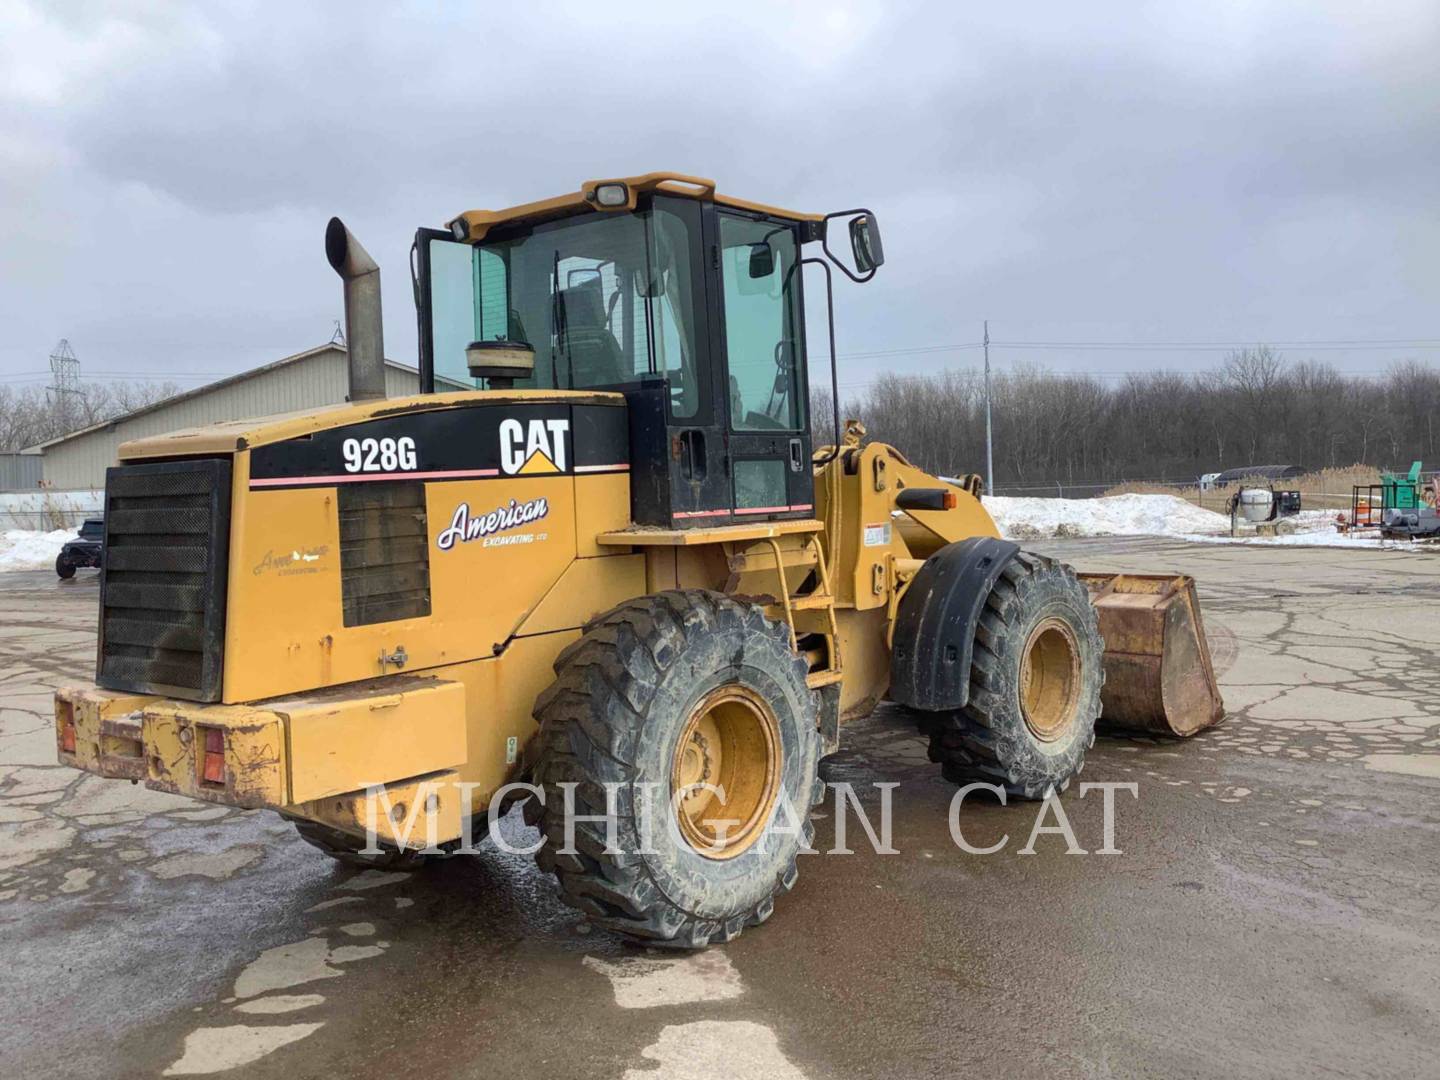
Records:
[[[955,789],[881,708],[824,769],[871,815],[899,783],[899,854],[851,814],[855,854],[802,858],[769,923],[688,956],[593,930],[526,857],[356,873],[275,815],[56,766],[95,579],[0,575],[0,1076],[1440,1073],[1440,560],[1034,546],[1201,583],[1231,717],[1096,744],[1084,780],[1139,785],[1123,854],[1020,854],[1037,806],[969,801],[968,842],[1008,842],[960,851]],[[1061,805],[1102,847],[1100,792]]]

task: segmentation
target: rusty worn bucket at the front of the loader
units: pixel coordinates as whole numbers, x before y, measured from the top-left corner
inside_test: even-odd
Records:
[[[1189,736],[1224,719],[1194,577],[1083,573],[1080,580],[1104,638],[1103,727]]]

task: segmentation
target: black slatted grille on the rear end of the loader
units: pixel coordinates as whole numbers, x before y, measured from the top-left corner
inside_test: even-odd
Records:
[[[229,539],[229,458],[105,472],[99,685],[220,700]]]

